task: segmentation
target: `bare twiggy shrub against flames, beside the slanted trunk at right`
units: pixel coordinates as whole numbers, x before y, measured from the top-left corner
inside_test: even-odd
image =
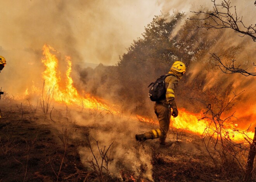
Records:
[[[215,167],[222,170],[227,176],[232,171],[231,168],[234,173],[235,170],[238,170],[237,167],[244,172],[245,159],[242,153],[248,151],[248,145],[246,144],[247,141],[251,140],[246,134],[249,128],[246,131],[237,129],[230,131],[226,128],[232,121],[231,119],[235,117],[234,113],[231,116],[223,117],[225,111],[233,106],[232,102],[241,93],[234,93],[230,101],[223,105],[222,108],[219,108],[219,111],[213,111],[211,104],[205,104],[207,111],[204,112],[204,117],[201,118],[209,122],[209,126],[202,133],[202,142]],[[234,135],[231,135],[231,132],[242,134],[244,140],[235,141],[232,139]]]

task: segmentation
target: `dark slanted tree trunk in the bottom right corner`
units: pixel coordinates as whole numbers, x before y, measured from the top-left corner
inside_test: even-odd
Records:
[[[244,182],[249,182],[252,180],[252,172],[253,172],[253,162],[256,154],[256,128],[253,137],[253,143],[251,143],[250,151],[248,154],[248,160],[246,164],[246,173],[244,175]]]

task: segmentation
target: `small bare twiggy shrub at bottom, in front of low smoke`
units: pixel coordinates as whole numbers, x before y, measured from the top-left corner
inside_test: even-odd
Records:
[[[93,151],[92,149],[92,145],[91,145],[92,138],[90,137],[89,134],[86,134],[86,139],[88,141],[88,145],[93,155],[93,158],[90,158],[89,160],[87,160],[87,162],[89,163],[90,167],[93,169],[93,172],[95,172],[96,175],[99,177],[100,181],[107,182],[109,180],[108,164],[111,156],[111,151],[109,153],[108,151],[111,145],[114,143],[114,141],[108,147],[104,146],[104,148],[102,149],[99,147],[99,142],[94,139],[94,141],[97,144],[98,152],[100,154],[100,156],[98,156],[98,154],[95,154],[95,151]]]

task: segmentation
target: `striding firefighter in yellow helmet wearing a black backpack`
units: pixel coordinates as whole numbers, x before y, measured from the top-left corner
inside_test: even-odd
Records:
[[[175,102],[175,88],[185,72],[185,64],[181,61],[175,61],[168,74],[161,76],[156,82],[152,83],[149,96],[152,101],[156,101],[154,111],[159,121],[159,128],[143,134],[136,134],[135,138],[137,141],[144,142],[147,139],[159,138],[160,145],[166,145],[166,137],[169,131],[171,116],[178,116],[178,109]],[[164,91],[162,91],[163,94],[157,95],[161,92],[159,91],[161,89],[159,88],[159,85],[163,85],[162,90]]]

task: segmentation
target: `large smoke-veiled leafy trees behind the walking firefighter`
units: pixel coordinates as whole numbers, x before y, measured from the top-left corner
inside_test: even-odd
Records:
[[[211,68],[209,50],[214,48],[223,52],[223,48],[216,47],[216,44],[221,41],[224,30],[193,31],[199,24],[186,20],[182,13],[155,16],[145,27],[142,36],[134,40],[127,52],[120,56],[116,66],[99,65],[94,70],[86,68],[80,71],[81,81],[86,85],[84,90],[104,99],[112,98],[116,104],[125,103],[124,110],[131,109],[137,114],[153,116],[147,86],[166,74],[174,61],[180,60],[188,70],[201,71],[194,75],[193,80],[187,76],[180,80],[175,93],[178,107],[185,107],[189,103],[193,105],[192,111],[198,111],[199,106],[187,99],[190,97],[206,102],[216,100],[214,104],[219,104],[223,97],[232,92],[232,87],[220,89],[227,78],[208,90],[204,87],[207,74],[216,71],[214,66]],[[228,59],[240,51],[240,47],[227,47],[225,51]]]

